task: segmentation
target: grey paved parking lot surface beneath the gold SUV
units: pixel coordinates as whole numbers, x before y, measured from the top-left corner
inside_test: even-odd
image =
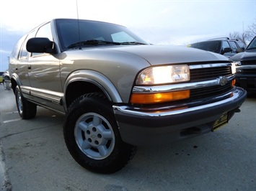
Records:
[[[256,98],[221,129],[161,147],[138,148],[115,174],[76,164],[63,140],[63,116],[37,107],[21,120],[0,85],[1,190],[256,190]]]

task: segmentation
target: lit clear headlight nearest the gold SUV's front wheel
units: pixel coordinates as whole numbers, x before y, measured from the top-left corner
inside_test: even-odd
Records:
[[[168,65],[149,67],[143,70],[136,80],[136,85],[157,85],[179,83],[190,80],[188,65]]]

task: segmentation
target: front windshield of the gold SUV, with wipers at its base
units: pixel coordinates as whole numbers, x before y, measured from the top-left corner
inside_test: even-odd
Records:
[[[56,29],[62,50],[79,46],[148,44],[126,27],[105,22],[56,19]]]

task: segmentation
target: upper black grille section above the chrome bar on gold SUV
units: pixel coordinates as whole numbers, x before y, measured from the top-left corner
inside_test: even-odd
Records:
[[[220,76],[231,75],[231,66],[206,67],[190,70],[190,81],[202,81],[219,78]]]

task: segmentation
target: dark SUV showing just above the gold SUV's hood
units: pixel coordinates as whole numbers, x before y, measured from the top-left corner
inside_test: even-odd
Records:
[[[219,53],[226,57],[231,57],[238,53],[237,49],[244,51],[245,45],[238,39],[229,39],[228,37],[218,39],[208,39],[203,42],[196,42],[187,47],[198,48],[210,52]]]

